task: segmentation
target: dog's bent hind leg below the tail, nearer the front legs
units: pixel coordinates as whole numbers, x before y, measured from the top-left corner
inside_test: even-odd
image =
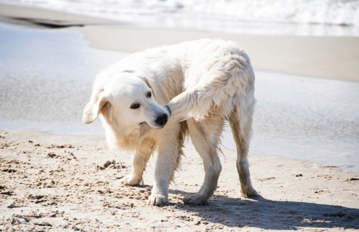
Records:
[[[184,203],[201,205],[206,204],[209,197],[217,188],[219,174],[222,170],[217,155],[220,135],[223,131],[223,119],[187,120],[191,140],[204,164],[205,177],[202,187],[196,194],[183,199]]]

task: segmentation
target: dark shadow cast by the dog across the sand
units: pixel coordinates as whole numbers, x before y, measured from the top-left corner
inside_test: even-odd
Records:
[[[169,190],[169,193],[187,196],[189,192]],[[298,228],[359,229],[359,209],[318,203],[271,201],[261,196],[245,199],[215,195],[208,205],[193,206],[183,203],[178,210],[196,213],[201,222],[213,222],[229,227],[257,227],[272,230]]]

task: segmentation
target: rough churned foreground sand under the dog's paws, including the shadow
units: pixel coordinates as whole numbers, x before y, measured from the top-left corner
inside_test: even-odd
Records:
[[[0,231],[357,231],[358,174],[307,161],[251,154],[261,197],[239,195],[235,153],[224,150],[211,203],[190,206],[203,166],[192,145],[170,186],[168,205],[147,205],[154,158],[144,186],[120,181],[131,155],[100,137],[0,131]]]

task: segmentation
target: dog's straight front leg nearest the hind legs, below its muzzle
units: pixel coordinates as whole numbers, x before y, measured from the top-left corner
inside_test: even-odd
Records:
[[[155,167],[155,182],[148,198],[148,204],[168,203],[168,185],[177,167],[179,142],[175,136],[167,135],[158,143],[158,156]]]

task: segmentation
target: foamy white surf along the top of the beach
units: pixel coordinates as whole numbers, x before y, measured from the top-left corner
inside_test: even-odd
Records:
[[[176,14],[249,22],[359,26],[359,0],[0,0],[117,19]]]

